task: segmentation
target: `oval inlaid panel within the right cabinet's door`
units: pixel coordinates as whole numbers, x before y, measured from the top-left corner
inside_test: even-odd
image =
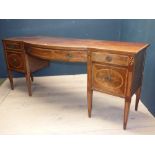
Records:
[[[99,84],[111,89],[118,89],[123,85],[122,75],[113,69],[98,70],[95,79]]]

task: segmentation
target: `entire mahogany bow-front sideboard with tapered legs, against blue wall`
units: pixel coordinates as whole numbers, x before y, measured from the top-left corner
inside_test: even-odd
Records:
[[[59,37],[15,37],[3,40],[8,77],[12,71],[25,74],[29,95],[33,72],[49,61],[87,63],[87,104],[91,117],[93,91],[125,99],[123,128],[126,129],[131,97],[135,110],[141,94],[144,60],[149,44]]]

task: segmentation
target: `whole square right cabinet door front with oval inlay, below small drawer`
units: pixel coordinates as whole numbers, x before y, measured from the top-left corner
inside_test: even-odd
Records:
[[[125,95],[125,68],[93,64],[92,74],[94,89],[122,97]]]

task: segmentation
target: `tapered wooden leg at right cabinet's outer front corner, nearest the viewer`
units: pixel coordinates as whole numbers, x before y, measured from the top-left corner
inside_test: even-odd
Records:
[[[130,111],[131,98],[125,99],[123,129],[126,129]]]

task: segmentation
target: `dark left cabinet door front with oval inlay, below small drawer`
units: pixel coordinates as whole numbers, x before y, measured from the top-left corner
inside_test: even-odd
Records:
[[[25,58],[23,53],[7,52],[6,53],[8,68],[17,71],[24,71]]]

